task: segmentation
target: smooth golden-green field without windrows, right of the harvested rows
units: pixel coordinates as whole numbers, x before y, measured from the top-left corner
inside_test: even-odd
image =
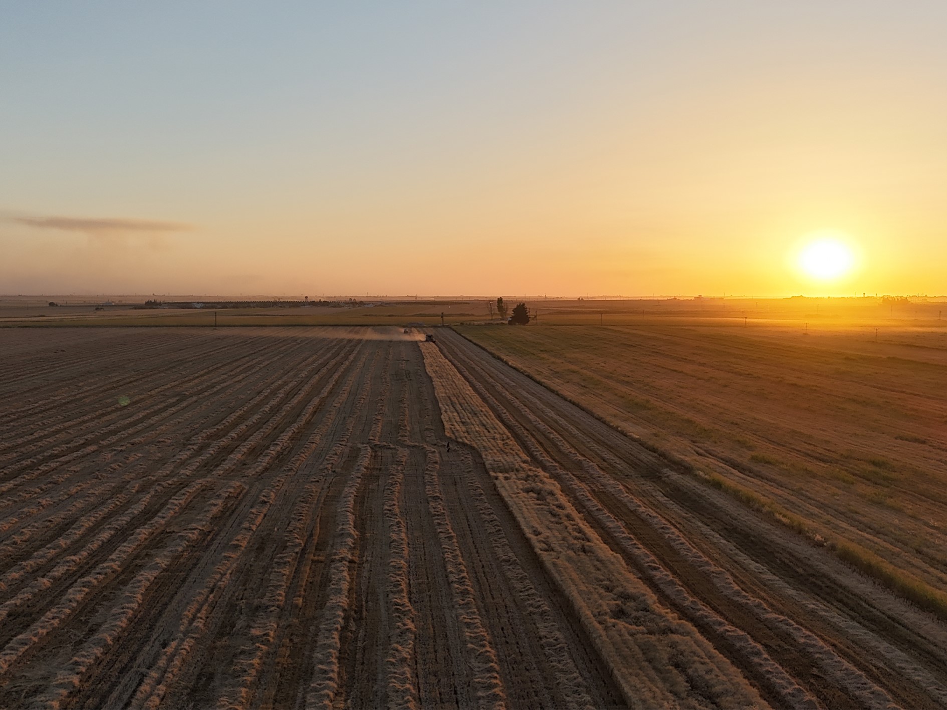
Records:
[[[947,328],[465,328],[947,617]]]

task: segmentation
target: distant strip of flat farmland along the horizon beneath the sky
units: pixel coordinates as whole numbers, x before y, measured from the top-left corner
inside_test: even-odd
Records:
[[[150,297],[150,296],[148,296]],[[362,305],[328,307],[283,303],[263,308],[215,308],[203,296],[174,296],[201,308],[138,310],[146,296],[115,297],[114,305],[96,308],[109,296],[0,296],[2,327],[124,326],[426,326],[500,322],[495,298],[459,296],[416,302],[363,296]],[[874,334],[910,328],[947,328],[947,300],[927,297],[864,298],[635,298],[570,300],[506,296],[508,309],[527,304],[542,325],[654,325],[660,323],[717,325],[793,325],[800,329],[862,328]],[[223,299],[223,303],[232,299]],[[48,307],[48,301],[60,305]]]

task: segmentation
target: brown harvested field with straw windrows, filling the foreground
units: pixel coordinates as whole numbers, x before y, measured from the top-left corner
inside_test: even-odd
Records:
[[[0,707],[931,707],[947,628],[446,328],[0,331]]]

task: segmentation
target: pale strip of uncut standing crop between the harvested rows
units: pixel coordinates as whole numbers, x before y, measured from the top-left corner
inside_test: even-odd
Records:
[[[509,431],[439,350],[422,348],[445,430],[484,453],[501,495],[572,602],[626,701],[652,705],[759,701],[696,630],[661,609],[622,559],[585,523],[559,485],[528,463],[527,454]]]

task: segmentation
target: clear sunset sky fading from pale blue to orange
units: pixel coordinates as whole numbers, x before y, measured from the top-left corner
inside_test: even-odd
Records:
[[[0,293],[947,293],[944,27],[0,0]],[[852,267],[819,280],[826,235]]]

